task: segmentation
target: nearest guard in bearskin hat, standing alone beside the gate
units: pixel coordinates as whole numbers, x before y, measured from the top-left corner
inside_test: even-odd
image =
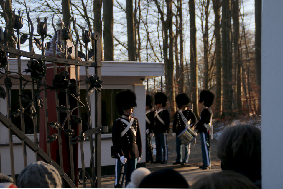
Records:
[[[113,123],[111,154],[116,158],[115,166],[115,184],[118,185],[121,166],[124,164],[124,174],[121,186],[123,186],[124,177],[127,185],[130,182],[131,173],[136,169],[136,164],[141,160],[141,133],[137,118],[131,116],[136,106],[136,94],[131,90],[121,91],[116,95],[115,104],[121,118]]]

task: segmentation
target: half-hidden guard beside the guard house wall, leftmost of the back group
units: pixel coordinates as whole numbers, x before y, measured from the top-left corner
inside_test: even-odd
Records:
[[[153,154],[152,154],[152,141],[153,141],[153,124],[154,124],[154,111],[152,111],[153,97],[150,95],[146,96],[145,102],[145,129],[146,129],[146,162],[153,163]]]

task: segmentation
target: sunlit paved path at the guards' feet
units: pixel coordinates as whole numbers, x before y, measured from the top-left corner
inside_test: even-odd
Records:
[[[146,167],[151,171],[157,171],[165,168],[172,168],[177,172],[179,172],[180,174],[182,174],[185,177],[185,179],[188,181],[189,185],[191,185],[195,181],[195,179],[197,179],[202,175],[221,171],[221,169],[212,168],[208,170],[202,170],[198,167],[190,167],[190,165],[185,165],[185,166],[172,165],[172,164],[170,165],[169,163],[165,165],[146,164]],[[114,176],[112,175],[112,176],[102,177],[101,188],[114,188]],[[123,188],[125,188],[125,186]]]

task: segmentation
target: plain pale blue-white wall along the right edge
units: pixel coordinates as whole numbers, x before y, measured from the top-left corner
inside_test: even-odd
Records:
[[[263,0],[261,28],[262,188],[283,186],[283,1]]]

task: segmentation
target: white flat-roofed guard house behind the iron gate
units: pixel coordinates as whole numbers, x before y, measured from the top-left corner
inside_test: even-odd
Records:
[[[27,69],[26,64],[29,60],[22,60],[22,70]],[[17,71],[17,59],[9,59],[9,70]],[[94,70],[89,69],[89,74],[92,75]],[[137,97],[137,107],[134,108],[133,116],[139,119],[139,124],[141,127],[142,134],[142,145],[143,151],[145,151],[145,101],[146,101],[146,90],[145,85],[141,84],[146,78],[153,78],[157,76],[164,76],[164,63],[155,62],[118,62],[118,61],[103,61],[103,66],[101,68],[101,80],[102,83],[102,125],[108,126],[108,133],[102,134],[101,141],[101,166],[102,175],[114,174],[113,167],[115,166],[115,159],[111,158],[110,147],[112,146],[112,124],[113,121],[119,118],[119,114],[115,106],[115,96],[118,92],[125,89],[131,89],[136,93]],[[80,79],[85,78],[85,68],[80,68]],[[4,82],[0,83],[4,86]],[[85,85],[85,83],[80,82],[80,85]],[[30,93],[31,86],[27,85],[24,88],[24,92]],[[85,87],[80,87],[81,96],[84,96],[86,89]],[[85,90],[83,90],[85,89]],[[11,88],[11,98],[13,99],[14,109],[19,107],[19,86],[18,82],[13,82]],[[91,97],[93,93],[91,94]],[[91,103],[91,108],[94,104]],[[7,102],[6,99],[0,99],[0,111],[6,115],[7,114]],[[14,110],[12,110],[14,111]],[[82,112],[83,117],[83,112]],[[29,128],[29,123],[26,123],[26,135],[34,141],[33,126]],[[39,138],[40,138],[39,134]],[[23,147],[22,142],[13,135],[14,143],[14,164],[15,164],[15,174],[19,174],[24,168],[24,160],[22,158]],[[83,146],[85,149],[90,148],[89,141],[84,141]],[[9,149],[9,134],[8,129],[0,122],[0,149],[1,149],[1,169],[2,173],[6,175],[11,175],[11,163],[10,163],[10,149]],[[79,149],[80,151],[80,149]],[[17,155],[19,154],[19,155]],[[85,151],[85,167],[89,167],[90,161],[90,151]],[[78,157],[78,168],[82,167],[80,156]],[[34,152],[27,148],[27,163],[35,161]],[[145,167],[145,156],[141,158],[138,166]]]

